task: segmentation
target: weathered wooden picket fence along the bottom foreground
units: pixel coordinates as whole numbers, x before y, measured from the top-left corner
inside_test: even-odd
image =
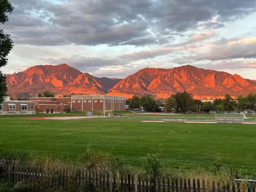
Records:
[[[1,168],[1,167],[0,167]],[[4,165],[5,177],[12,182],[25,182],[61,191],[168,191],[168,192],[255,192],[254,185],[170,177],[142,177],[137,174],[96,170],[66,170],[58,167]]]

